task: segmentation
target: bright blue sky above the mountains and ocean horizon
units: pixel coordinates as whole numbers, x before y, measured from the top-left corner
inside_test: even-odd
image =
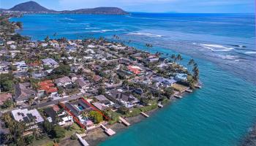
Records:
[[[0,0],[10,8],[28,0]],[[254,13],[255,0],[34,0],[48,9],[121,7],[129,12]]]

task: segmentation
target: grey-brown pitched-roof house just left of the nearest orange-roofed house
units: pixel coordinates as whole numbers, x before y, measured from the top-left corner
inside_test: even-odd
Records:
[[[31,88],[30,82],[18,83],[14,86],[14,90],[14,99],[17,104],[22,104],[25,101],[29,101],[29,99],[37,97],[37,92]]]

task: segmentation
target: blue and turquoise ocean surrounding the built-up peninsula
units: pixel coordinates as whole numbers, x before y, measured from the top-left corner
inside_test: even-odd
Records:
[[[105,37],[167,57],[181,53],[184,65],[195,59],[203,88],[99,145],[239,145],[256,122],[255,15],[24,15],[11,20],[23,22],[18,33],[32,40]],[[147,49],[146,43],[153,47]]]

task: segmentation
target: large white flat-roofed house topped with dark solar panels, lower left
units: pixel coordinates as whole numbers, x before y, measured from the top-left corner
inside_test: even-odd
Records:
[[[31,130],[34,128],[37,129],[39,127],[39,124],[41,124],[44,121],[44,119],[39,114],[37,109],[12,110],[12,117],[18,122],[25,122],[26,126],[29,126],[27,130]]]

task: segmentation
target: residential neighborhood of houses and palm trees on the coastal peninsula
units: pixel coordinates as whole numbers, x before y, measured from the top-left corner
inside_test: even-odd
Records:
[[[129,126],[127,118],[200,87],[197,64],[181,66],[181,55],[148,53],[102,37],[31,41],[12,34],[18,25],[9,17],[0,15],[0,128],[8,129],[2,133],[12,139],[2,142],[7,145],[59,143],[97,128],[110,136],[115,132],[106,127]]]

